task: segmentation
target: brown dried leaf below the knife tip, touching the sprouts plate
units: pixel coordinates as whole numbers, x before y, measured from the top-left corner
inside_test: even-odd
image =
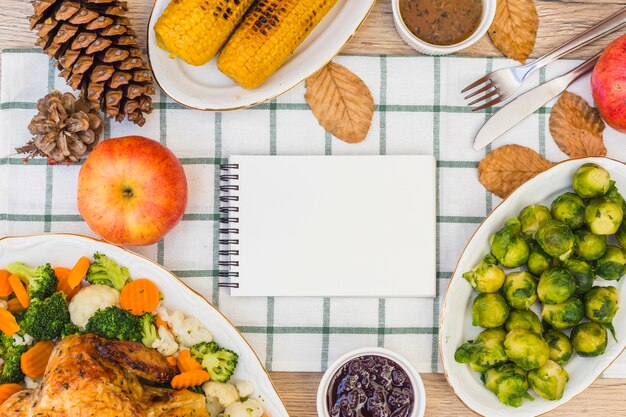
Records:
[[[551,166],[552,162],[530,148],[504,145],[480,161],[478,180],[487,190],[504,198]]]

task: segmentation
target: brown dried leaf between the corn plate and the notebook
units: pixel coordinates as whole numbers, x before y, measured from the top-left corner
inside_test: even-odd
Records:
[[[348,143],[365,139],[374,117],[367,85],[346,67],[330,63],[306,80],[307,103],[326,131]]]

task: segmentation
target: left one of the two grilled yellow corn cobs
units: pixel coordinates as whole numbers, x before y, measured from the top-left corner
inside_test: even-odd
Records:
[[[191,65],[209,62],[254,0],[172,0],[154,31],[157,45]]]

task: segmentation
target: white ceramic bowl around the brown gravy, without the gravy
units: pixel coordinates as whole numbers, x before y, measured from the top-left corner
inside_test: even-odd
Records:
[[[489,26],[491,26],[491,22],[493,22],[493,18],[496,15],[496,1],[497,0],[483,0],[483,16],[480,20],[480,25],[478,25],[476,31],[472,33],[469,38],[465,39],[463,42],[445,46],[433,45],[431,43],[424,42],[406,27],[400,13],[400,0],[391,0],[391,8],[393,11],[393,21],[396,25],[396,30],[400,34],[400,37],[410,47],[427,55],[448,55],[475,44],[485,33],[487,33],[487,30],[489,29]]]

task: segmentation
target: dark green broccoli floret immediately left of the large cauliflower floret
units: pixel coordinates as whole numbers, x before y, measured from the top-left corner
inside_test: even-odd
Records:
[[[45,300],[34,299],[19,322],[24,332],[36,340],[52,340],[59,337],[68,323],[70,312],[67,309],[65,294],[61,291]]]

